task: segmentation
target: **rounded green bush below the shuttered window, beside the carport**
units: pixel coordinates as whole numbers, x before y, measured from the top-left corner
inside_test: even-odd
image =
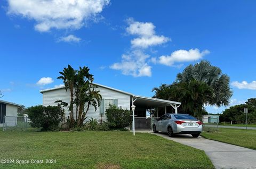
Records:
[[[131,112],[122,107],[110,105],[106,111],[110,129],[124,129],[131,124]]]

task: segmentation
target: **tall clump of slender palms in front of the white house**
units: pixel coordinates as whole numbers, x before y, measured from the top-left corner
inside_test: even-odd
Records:
[[[102,99],[100,91],[96,90],[98,87],[93,85],[93,75],[89,73],[90,69],[86,66],[79,67],[79,70],[74,70],[73,67],[68,65],[68,68],[64,68],[63,72],[60,72],[62,76],[58,77],[63,79],[66,91],[70,90],[70,103],[57,100],[57,103],[61,103],[62,106],[69,105],[68,122],[72,128],[74,125],[82,126],[86,119],[86,114],[89,111],[90,105],[97,110]],[[74,98],[75,96],[75,98]],[[76,119],[74,118],[74,104],[76,104]]]

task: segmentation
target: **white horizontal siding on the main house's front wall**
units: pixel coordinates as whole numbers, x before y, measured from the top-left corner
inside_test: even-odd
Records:
[[[100,94],[102,96],[102,99],[117,99],[118,107],[122,107],[124,109],[130,110],[130,99],[131,96],[127,94],[123,94],[121,92],[99,87],[97,90],[100,90]],[[51,91],[45,91],[43,92],[43,106],[55,106],[58,103],[54,103],[56,100],[62,100],[63,102],[70,103],[70,91],[62,89],[56,89]],[[86,106],[86,105],[85,105]],[[85,107],[86,108],[86,107]],[[76,107],[74,105],[74,115],[76,112]],[[69,116],[69,112],[67,107],[65,108],[65,116]],[[95,111],[93,106],[90,106],[89,111],[86,114],[87,120],[91,119],[91,117],[95,119],[100,119],[100,107],[97,108],[97,111]],[[102,120],[106,121],[106,115],[102,116]]]

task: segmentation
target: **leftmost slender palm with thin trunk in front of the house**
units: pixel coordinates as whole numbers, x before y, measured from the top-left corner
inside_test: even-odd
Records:
[[[69,104],[69,117],[70,117],[70,125],[73,126],[74,120],[74,88],[76,85],[76,73],[77,70],[74,70],[73,67],[68,65],[63,69],[63,72],[59,72],[61,74],[57,79],[62,79],[65,85],[66,91],[70,90],[70,104]]]

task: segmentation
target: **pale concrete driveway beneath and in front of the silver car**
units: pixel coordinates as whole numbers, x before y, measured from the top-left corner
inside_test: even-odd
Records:
[[[193,138],[189,134],[179,134],[171,138],[161,132],[149,133],[204,150],[215,168],[256,168],[256,151],[252,149],[213,141],[200,136]]]

